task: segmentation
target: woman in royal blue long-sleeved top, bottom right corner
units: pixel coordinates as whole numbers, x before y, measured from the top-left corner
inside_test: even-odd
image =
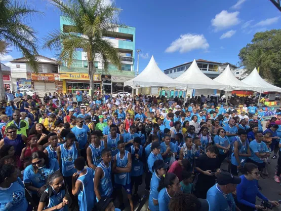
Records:
[[[246,163],[244,166],[244,174],[240,176],[241,183],[236,187],[237,206],[242,211],[262,210],[264,207],[256,205],[256,197],[268,201],[273,206],[278,206],[277,201],[268,200],[258,190],[258,180],[260,179],[260,171],[258,166],[253,163]]]

